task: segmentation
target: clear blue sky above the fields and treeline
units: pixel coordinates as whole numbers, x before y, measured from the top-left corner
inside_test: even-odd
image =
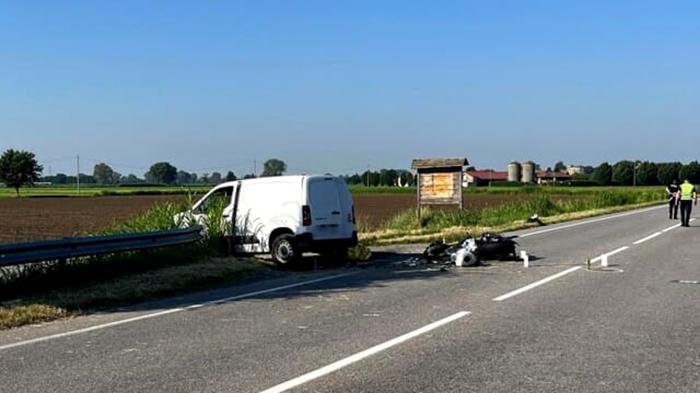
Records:
[[[137,175],[690,161],[699,19],[692,1],[6,1],[0,150]]]

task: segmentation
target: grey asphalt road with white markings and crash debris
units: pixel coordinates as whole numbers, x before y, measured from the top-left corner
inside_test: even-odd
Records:
[[[0,332],[0,391],[699,392],[700,221],[676,223],[647,209],[523,231],[529,268],[383,253]]]

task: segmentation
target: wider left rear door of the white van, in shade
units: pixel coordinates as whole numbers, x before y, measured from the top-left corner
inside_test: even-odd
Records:
[[[311,178],[308,183],[308,193],[314,238],[336,239],[340,237],[342,211],[335,178]]]

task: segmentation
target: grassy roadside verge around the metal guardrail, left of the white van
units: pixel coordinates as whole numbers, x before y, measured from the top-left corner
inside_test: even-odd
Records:
[[[166,202],[100,234],[179,227],[173,216],[190,202]],[[209,215],[221,217],[223,204]],[[209,225],[194,244],[0,268],[0,328],[47,321],[153,297],[232,283],[266,270],[259,262],[219,258],[223,231]]]

